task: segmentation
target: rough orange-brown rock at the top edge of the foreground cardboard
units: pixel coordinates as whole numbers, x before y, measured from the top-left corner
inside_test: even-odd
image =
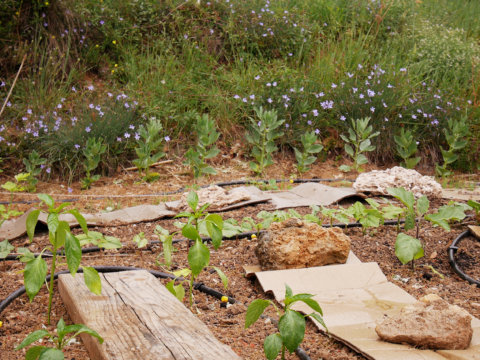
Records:
[[[341,229],[295,218],[273,223],[255,249],[262,270],[344,264],[349,251],[350,238]]]

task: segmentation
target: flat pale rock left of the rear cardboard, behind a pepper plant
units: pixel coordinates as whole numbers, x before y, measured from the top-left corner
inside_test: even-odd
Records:
[[[173,206],[172,203],[167,203],[167,207],[174,211],[190,210],[187,204],[188,193],[189,192],[183,193],[180,202],[175,203],[175,206]],[[210,211],[215,211],[251,199],[251,195],[246,191],[242,191],[241,189],[227,191],[217,185],[210,185],[209,187],[196,191],[196,193],[198,195],[198,207],[209,203],[210,206],[208,207],[208,210]]]

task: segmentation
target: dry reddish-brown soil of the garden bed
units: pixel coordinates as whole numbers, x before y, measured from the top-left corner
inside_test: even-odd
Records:
[[[273,167],[269,168],[265,178],[289,179],[295,174],[292,159],[279,159]],[[231,160],[228,164],[219,166],[219,174],[212,178],[203,178],[199,184],[217,183],[227,180],[252,179],[247,163],[240,160]],[[354,178],[355,174],[343,175],[336,170],[333,162],[315,165],[313,169],[304,174],[303,178]],[[75,200],[74,205],[84,212],[105,211],[107,207],[122,208],[138,204],[158,204],[159,202],[178,198],[178,195],[165,195],[164,192],[174,191],[183,186],[191,185],[192,178],[185,173],[183,166],[166,164],[159,169],[162,177],[152,184],[138,182],[135,172],[123,172],[115,178],[102,178],[88,191],[80,191],[78,183],[70,185],[72,193],[68,193],[68,185],[54,180],[48,183],[41,182],[38,192],[53,194],[56,199],[70,198]],[[422,171],[428,173],[428,171]],[[460,177],[465,179],[465,177]],[[476,176],[475,181],[478,181]],[[2,179],[2,183],[5,179]],[[286,186],[286,185],[285,185]],[[159,195],[160,194],[160,195]],[[139,197],[139,195],[141,195]],[[2,200],[9,197],[2,195]],[[35,196],[28,194],[15,195],[15,200],[33,200]],[[438,207],[444,201],[436,201],[432,207]],[[340,204],[348,206],[345,202]],[[18,204],[22,210],[27,210],[32,205]],[[244,216],[254,216],[261,210],[271,210],[268,204],[248,206],[242,209],[222,213],[224,219],[242,219]],[[309,213],[310,209],[297,209],[300,213]],[[345,233],[351,238],[353,252],[363,262],[378,262],[389,281],[399,285],[411,295],[420,297],[428,293],[436,293],[448,302],[459,305],[469,311],[473,316],[480,317],[480,289],[468,284],[456,275],[451,269],[447,249],[450,243],[466,229],[467,223],[472,223],[469,218],[463,224],[452,227],[447,233],[441,229],[424,226],[420,236],[425,242],[426,256],[416,262],[415,270],[410,266],[402,265],[394,254],[396,229],[394,226],[382,226],[375,231],[362,234],[361,229],[346,229]],[[124,244],[119,250],[108,250],[97,253],[85,254],[83,265],[125,265],[146,269],[160,270],[158,255],[161,252],[159,245],[151,245],[139,250],[132,242],[132,238],[139,232],[144,232],[150,240],[158,240],[153,230],[156,225],[161,225],[169,230],[176,230],[173,220],[159,220],[155,222],[140,223],[129,226],[94,228],[105,235],[118,237]],[[77,229],[74,230],[78,232]],[[27,246],[31,251],[40,251],[47,243],[47,234],[39,233],[30,244],[26,237],[11,241],[15,247]],[[244,276],[244,265],[256,264],[254,254],[255,240],[237,239],[224,241],[218,251],[212,249],[211,265],[220,267],[229,279],[228,290],[223,290],[221,282],[208,271],[202,273],[199,281],[207,286],[223,291],[234,297],[238,304],[229,308],[220,307],[218,300],[208,297],[200,292],[195,292],[195,304],[200,312],[199,319],[205,322],[213,334],[225,344],[228,344],[238,355],[244,359],[263,359],[262,344],[265,337],[276,331],[270,321],[259,321],[251,328],[244,329],[246,306],[257,298],[271,298],[263,293],[261,287],[254,279]],[[180,269],[186,265],[186,242],[176,246],[174,254],[174,268]],[[480,259],[480,244],[474,238],[461,242],[457,252],[459,264],[471,277],[480,279],[478,259]],[[432,271],[433,267],[436,271]],[[23,278],[20,271],[23,264],[19,261],[5,261],[0,263],[0,300],[4,299],[11,291],[22,286]],[[439,275],[443,275],[443,278]],[[40,329],[46,323],[46,304],[48,296],[45,287],[32,303],[26,295],[21,296],[10,304],[0,314],[3,326],[0,328],[0,358],[2,360],[22,359],[24,352],[14,351],[28,333]],[[66,309],[58,295],[54,298],[53,320],[56,323],[60,317],[70,322]],[[277,317],[273,311],[268,312],[272,317]],[[328,325],[328,324],[327,324]],[[52,326],[49,327],[50,329]],[[364,359],[355,351],[340,342],[320,333],[316,327],[309,323],[302,348],[312,359]],[[288,359],[295,359],[296,355],[289,355]],[[81,342],[74,344],[66,351],[66,359],[90,359]]]

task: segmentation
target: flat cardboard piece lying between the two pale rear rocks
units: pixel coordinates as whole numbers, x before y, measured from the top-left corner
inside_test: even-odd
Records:
[[[304,183],[288,191],[272,192],[270,202],[276,209],[310,205],[331,205],[348,197],[364,197],[352,188]]]

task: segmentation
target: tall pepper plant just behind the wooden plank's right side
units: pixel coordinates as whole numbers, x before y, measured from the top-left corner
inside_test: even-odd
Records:
[[[190,307],[192,307],[193,283],[203,269],[205,269],[210,263],[210,249],[203,243],[200,234],[207,233],[212,240],[214,249],[217,250],[222,244],[223,219],[218,214],[209,214],[206,212],[210,204],[206,203],[202,206],[199,206],[198,195],[195,191],[190,191],[186,200],[191,211],[181,212],[176,215],[176,217],[186,217],[187,223],[176,223],[175,225],[180,226],[182,229],[182,235],[187,239],[192,240],[194,243],[192,246],[190,246],[189,242],[187,256],[189,268],[174,272],[174,274],[181,282],[188,282],[189,303]],[[215,266],[213,266],[213,269],[220,276],[224,287],[227,287],[228,280],[225,274]],[[172,292],[172,294],[177,296],[177,298],[180,300],[183,299],[185,292],[180,289],[181,284],[177,286],[174,284],[174,280],[170,281],[167,284],[167,289],[169,289],[170,292]]]

